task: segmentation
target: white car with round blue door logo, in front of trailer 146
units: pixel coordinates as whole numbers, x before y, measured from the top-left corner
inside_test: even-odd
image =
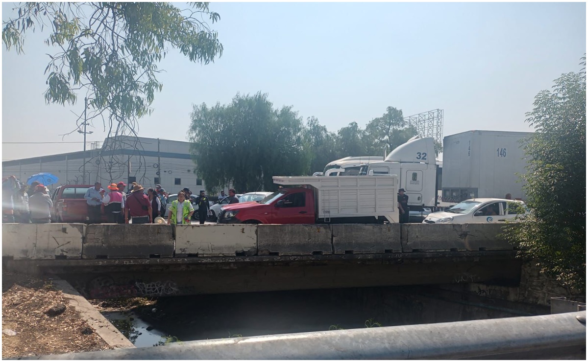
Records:
[[[498,198],[468,199],[449,208],[447,211],[432,212],[423,224],[472,224],[496,223],[515,219],[519,214],[518,206],[527,207],[523,201]]]

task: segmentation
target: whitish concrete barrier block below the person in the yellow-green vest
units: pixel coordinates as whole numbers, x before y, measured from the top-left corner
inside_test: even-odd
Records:
[[[176,256],[256,255],[257,225],[176,225]]]

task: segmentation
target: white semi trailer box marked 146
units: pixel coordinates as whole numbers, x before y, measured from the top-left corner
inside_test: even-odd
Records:
[[[519,175],[527,160],[521,140],[530,132],[467,131],[443,138],[442,201],[470,198],[525,199]]]

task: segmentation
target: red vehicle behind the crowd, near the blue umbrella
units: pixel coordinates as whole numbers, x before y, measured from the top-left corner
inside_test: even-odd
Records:
[[[88,222],[88,204],[83,195],[94,185],[62,185],[53,192],[53,222]],[[108,222],[102,212],[102,222]]]

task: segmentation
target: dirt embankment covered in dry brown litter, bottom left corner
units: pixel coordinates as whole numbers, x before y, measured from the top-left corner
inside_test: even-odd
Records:
[[[106,349],[51,280],[2,273],[2,358]]]

